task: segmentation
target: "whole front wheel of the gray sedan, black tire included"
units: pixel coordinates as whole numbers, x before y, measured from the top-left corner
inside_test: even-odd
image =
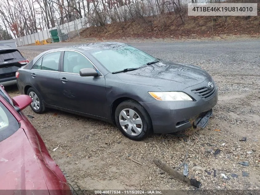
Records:
[[[126,100],[115,110],[115,121],[124,136],[140,141],[152,132],[152,121],[147,111],[139,103]]]

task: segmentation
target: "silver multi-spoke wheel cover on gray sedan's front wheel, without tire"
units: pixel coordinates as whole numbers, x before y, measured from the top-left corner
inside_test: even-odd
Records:
[[[138,136],[142,132],[142,119],[130,108],[125,108],[120,112],[119,123],[128,135]]]

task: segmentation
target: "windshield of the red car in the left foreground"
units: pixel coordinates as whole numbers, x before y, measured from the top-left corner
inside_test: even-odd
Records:
[[[0,141],[14,134],[19,129],[19,123],[11,112],[0,102]]]

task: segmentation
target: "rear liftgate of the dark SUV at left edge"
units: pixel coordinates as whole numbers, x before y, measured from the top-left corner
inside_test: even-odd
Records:
[[[24,64],[24,57],[16,49],[0,50],[0,82],[15,80],[15,72]]]

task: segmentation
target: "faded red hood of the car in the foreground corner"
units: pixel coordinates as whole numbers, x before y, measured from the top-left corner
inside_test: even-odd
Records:
[[[22,128],[0,142],[0,189],[47,189],[34,151]],[[48,190],[43,192],[48,193]]]

